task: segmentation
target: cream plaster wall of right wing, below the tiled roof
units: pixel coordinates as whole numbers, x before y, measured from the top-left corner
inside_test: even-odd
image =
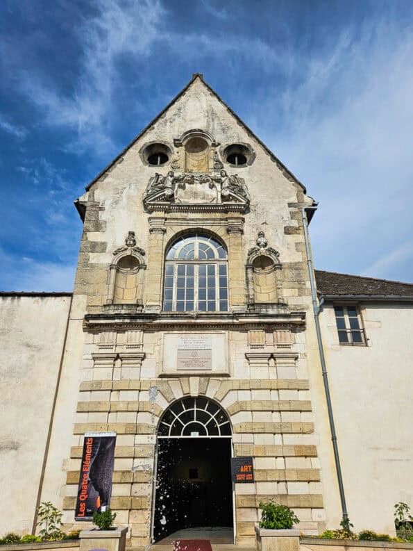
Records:
[[[355,530],[391,534],[394,504],[413,507],[413,306],[364,303],[361,314],[367,346],[339,345],[331,305],[323,343],[349,516]],[[323,447],[320,459],[324,473],[334,468]]]

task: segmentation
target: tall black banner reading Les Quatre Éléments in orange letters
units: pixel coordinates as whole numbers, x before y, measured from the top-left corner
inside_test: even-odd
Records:
[[[109,508],[115,443],[115,434],[85,434],[75,520],[90,520],[94,511]]]

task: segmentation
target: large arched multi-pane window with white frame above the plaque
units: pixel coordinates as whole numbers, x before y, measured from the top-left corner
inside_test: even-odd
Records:
[[[179,238],[167,251],[164,310],[228,311],[228,260],[217,240],[198,234]]]

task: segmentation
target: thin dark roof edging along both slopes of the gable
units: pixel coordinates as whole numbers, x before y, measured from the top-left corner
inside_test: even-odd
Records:
[[[240,119],[238,117],[238,115],[236,113],[234,113],[234,111],[225,103],[225,101],[223,99],[221,99],[221,97],[219,97],[219,95],[217,94],[217,92],[215,92],[214,90],[212,90],[212,88],[210,87],[210,85],[208,85],[204,79],[203,79],[203,75],[201,73],[194,73],[192,75],[192,79],[189,81],[189,83],[187,83],[187,85],[185,86],[185,88],[183,88],[183,90],[181,90],[179,92],[179,94],[176,95],[176,97],[174,97],[174,99],[172,99],[172,101],[165,107],[165,109],[163,109],[159,115],[157,115],[153,120],[151,120],[151,122],[149,122],[149,124],[147,124],[145,126],[145,128],[142,130],[142,132],[140,132],[135,138],[133,138],[133,140],[130,142],[129,145],[127,145],[120,153],[117,157],[115,157],[113,159],[113,161],[111,163],[108,164],[108,166],[106,166],[101,172],[99,172],[99,174],[96,176],[96,178],[94,178],[87,186],[86,186],[86,191],[90,190],[90,188],[92,188],[92,186],[94,185],[94,183],[96,183],[96,181],[99,180],[99,178],[101,178],[101,176],[103,176],[103,174],[105,174],[108,170],[110,170],[110,168],[115,165],[115,163],[117,163],[117,161],[119,161],[119,159],[124,156],[124,154],[126,154],[126,152],[128,151],[128,149],[130,149],[130,147],[132,147],[135,142],[137,142],[137,140],[139,140],[140,138],[142,138],[142,136],[146,133],[146,131],[148,131],[151,126],[153,126],[153,124],[155,124],[155,122],[157,122],[160,117],[162,117],[162,115],[165,115],[165,113],[167,113],[167,110],[169,110],[169,108],[171,108],[171,106],[173,106],[176,101],[178,101],[178,99],[180,99],[181,96],[183,96],[183,94],[185,94],[185,92],[187,92],[187,90],[190,88],[190,86],[192,85],[192,83],[194,83],[194,81],[196,81],[196,79],[199,79],[203,85],[205,86],[205,88],[207,88],[207,90],[209,90],[212,94],[214,94],[214,97],[216,97],[218,99],[218,101],[229,111],[229,113],[231,115],[233,115],[233,117],[235,118],[235,120],[237,120],[237,122],[244,128],[244,130],[253,136],[253,138],[255,140],[257,140],[257,142],[261,145],[261,147],[267,151],[267,154],[269,154],[269,156],[273,159],[273,161],[275,161],[275,163],[277,164],[278,168],[285,174],[285,176],[287,177],[287,179],[289,179],[289,181],[294,181],[295,183],[298,184],[298,186],[301,186],[301,188],[303,188],[303,192],[305,193],[306,190],[305,190],[305,186],[303,186],[303,183],[301,183],[301,181],[299,181],[296,176],[294,176],[294,174],[288,170],[288,168],[273,154],[273,152],[271,151],[271,149],[269,149],[267,147],[267,145],[265,145],[261,140],[260,138],[258,138],[255,133],[253,133],[253,131],[251,129],[248,128],[248,126],[244,123],[244,121],[242,119]]]

